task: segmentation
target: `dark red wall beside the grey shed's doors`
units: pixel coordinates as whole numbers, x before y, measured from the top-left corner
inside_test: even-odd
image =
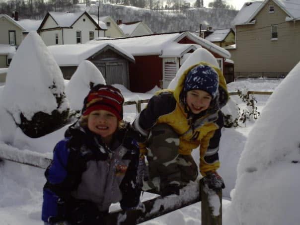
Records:
[[[162,58],[158,56],[136,56],[136,63],[129,64],[130,90],[146,92],[162,79]]]

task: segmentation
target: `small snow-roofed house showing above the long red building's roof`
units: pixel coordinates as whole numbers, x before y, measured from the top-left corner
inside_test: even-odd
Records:
[[[117,24],[126,36],[135,37],[153,34],[149,26],[143,21],[123,23],[122,20],[117,20]]]

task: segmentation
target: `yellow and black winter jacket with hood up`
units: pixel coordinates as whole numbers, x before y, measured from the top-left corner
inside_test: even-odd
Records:
[[[147,108],[141,112],[135,121],[135,127],[142,134],[144,132],[144,135],[147,135],[155,124],[165,123],[171,126],[180,136],[179,154],[189,155],[193,149],[200,146],[200,172],[205,176],[207,171],[215,171],[220,166],[218,149],[221,128],[224,123],[220,107],[226,104],[229,95],[222,72],[210,64],[203,62],[200,64],[211,66],[218,73],[220,81],[219,101],[216,99],[215,104],[210,106],[200,118],[193,121],[188,119],[184,105],[180,102],[180,93],[183,89],[185,77],[196,66],[194,65],[180,76],[174,90],[164,89],[155,93]],[[145,153],[146,146],[147,144],[141,144],[141,153]]]

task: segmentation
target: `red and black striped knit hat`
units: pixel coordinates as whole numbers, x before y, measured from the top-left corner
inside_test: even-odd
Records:
[[[123,119],[124,97],[118,88],[111,85],[97,84],[84,98],[82,115],[86,116],[95,110],[106,110],[118,120]]]

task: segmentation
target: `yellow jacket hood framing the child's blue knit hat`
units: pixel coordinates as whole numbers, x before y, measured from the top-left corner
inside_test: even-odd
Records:
[[[196,67],[196,66],[198,66],[198,65],[206,65],[206,66],[210,66],[210,67],[212,67],[212,68],[218,73],[218,75],[219,75],[219,93],[218,93],[218,95],[215,97],[215,99],[218,100],[218,102],[217,102],[218,104],[217,104],[217,108],[214,107],[214,110],[215,110],[215,111],[218,111],[219,109],[221,109],[223,106],[226,105],[226,103],[227,103],[227,101],[228,101],[228,99],[229,99],[229,93],[228,93],[228,91],[227,91],[226,80],[225,80],[225,77],[224,77],[222,71],[221,71],[219,68],[217,68],[217,67],[215,67],[215,66],[213,66],[213,65],[211,65],[211,64],[209,64],[209,63],[200,62],[199,64],[195,64],[195,65],[189,67],[187,70],[185,70],[185,71],[183,72],[183,74],[180,75],[180,78],[179,78],[179,80],[178,80],[178,83],[177,83],[177,85],[176,85],[176,87],[175,87],[175,89],[174,89],[174,92],[173,92],[174,98],[176,99],[176,101],[177,101],[178,103],[180,103],[180,93],[182,92],[183,87],[184,87],[184,80],[185,80],[185,77],[187,76],[187,74],[189,73],[189,71],[190,71],[192,68],[194,68],[194,67]],[[213,99],[212,102],[215,102],[214,99]]]

